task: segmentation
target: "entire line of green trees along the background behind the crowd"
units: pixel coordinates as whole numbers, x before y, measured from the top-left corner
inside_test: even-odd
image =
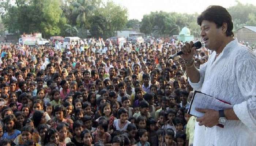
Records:
[[[139,21],[128,20],[127,8],[111,0],[15,0],[15,4],[12,1],[0,0],[1,32],[42,32],[45,37],[76,35],[86,38],[90,30],[93,37],[108,38],[115,36],[117,30],[128,28],[161,37],[178,35],[186,26],[191,35],[200,37],[197,13],[156,11],[144,15]],[[245,25],[256,26],[255,5],[237,1],[227,10],[233,18],[234,30]]]

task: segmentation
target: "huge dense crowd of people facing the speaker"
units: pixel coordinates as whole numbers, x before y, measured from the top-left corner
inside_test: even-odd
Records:
[[[1,45],[1,146],[192,145],[186,65],[167,62],[183,43],[98,42]],[[196,50],[197,68],[210,53]]]

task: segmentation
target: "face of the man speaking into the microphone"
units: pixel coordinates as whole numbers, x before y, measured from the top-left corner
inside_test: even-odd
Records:
[[[217,28],[217,25],[214,22],[203,20],[200,36],[208,49],[217,50],[223,44],[222,40],[223,37],[226,37],[226,33],[222,32],[222,27]]]

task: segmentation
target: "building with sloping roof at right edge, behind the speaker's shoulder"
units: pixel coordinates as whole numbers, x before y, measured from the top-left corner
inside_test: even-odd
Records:
[[[256,26],[244,26],[234,31],[238,42],[248,42],[251,46],[256,43]]]

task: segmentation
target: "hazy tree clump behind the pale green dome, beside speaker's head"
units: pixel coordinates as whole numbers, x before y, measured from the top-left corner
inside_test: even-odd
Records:
[[[198,14],[180,14],[176,12],[151,12],[144,15],[140,31],[145,34],[160,37],[162,35],[178,35],[181,28],[187,26],[192,31],[192,35],[198,35],[199,26],[196,24]]]

